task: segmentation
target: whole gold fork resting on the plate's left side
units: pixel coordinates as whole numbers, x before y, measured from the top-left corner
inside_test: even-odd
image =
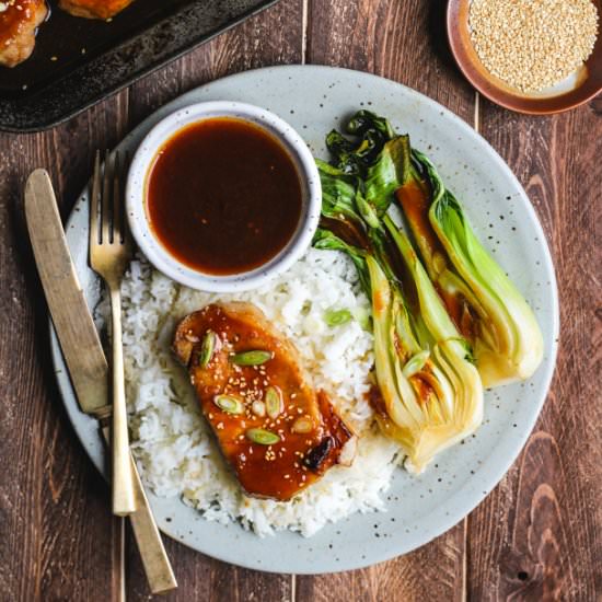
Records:
[[[125,162],[124,162],[125,165]],[[113,344],[113,513],[119,517],[136,510],[129,456],[124,350],[121,345],[121,278],[131,256],[131,240],[120,188],[121,162],[105,153],[104,175],[101,152],[96,151],[90,200],[90,266],[105,281],[111,296]],[[102,181],[102,187],[101,187]]]

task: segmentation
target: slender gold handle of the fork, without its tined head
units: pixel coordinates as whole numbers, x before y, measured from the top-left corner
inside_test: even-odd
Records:
[[[124,382],[124,347],[121,344],[121,292],[119,283],[111,283],[113,317],[113,513],[126,517],[136,511],[129,437],[127,427],[126,391]]]

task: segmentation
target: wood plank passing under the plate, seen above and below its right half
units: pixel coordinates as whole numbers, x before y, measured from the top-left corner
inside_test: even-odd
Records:
[[[471,125],[474,93],[453,67],[444,2],[310,2],[308,62],[370,71],[414,88]],[[406,556],[351,572],[298,577],[297,600],[462,600],[464,537],[460,523]]]

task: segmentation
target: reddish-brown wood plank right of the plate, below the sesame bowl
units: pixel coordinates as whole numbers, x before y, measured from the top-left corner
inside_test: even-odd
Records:
[[[474,600],[602,594],[602,251],[600,101],[553,117],[482,104],[482,132],[526,189],[552,247],[560,348],[519,461],[470,521]]]

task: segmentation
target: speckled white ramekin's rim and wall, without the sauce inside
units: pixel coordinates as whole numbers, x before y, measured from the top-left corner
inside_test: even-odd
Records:
[[[244,119],[263,127],[276,137],[297,167],[302,193],[301,216],[288,244],[266,264],[250,271],[229,276],[204,274],[178,262],[157,239],[147,213],[147,181],[161,147],[182,128],[212,117]],[[131,233],[147,258],[170,278],[188,287],[212,292],[254,289],[287,270],[311,244],[320,220],[321,199],[317,169],[301,136],[285,120],[265,108],[229,101],[186,106],[157,124],[134,155],[126,186],[126,207]]]

